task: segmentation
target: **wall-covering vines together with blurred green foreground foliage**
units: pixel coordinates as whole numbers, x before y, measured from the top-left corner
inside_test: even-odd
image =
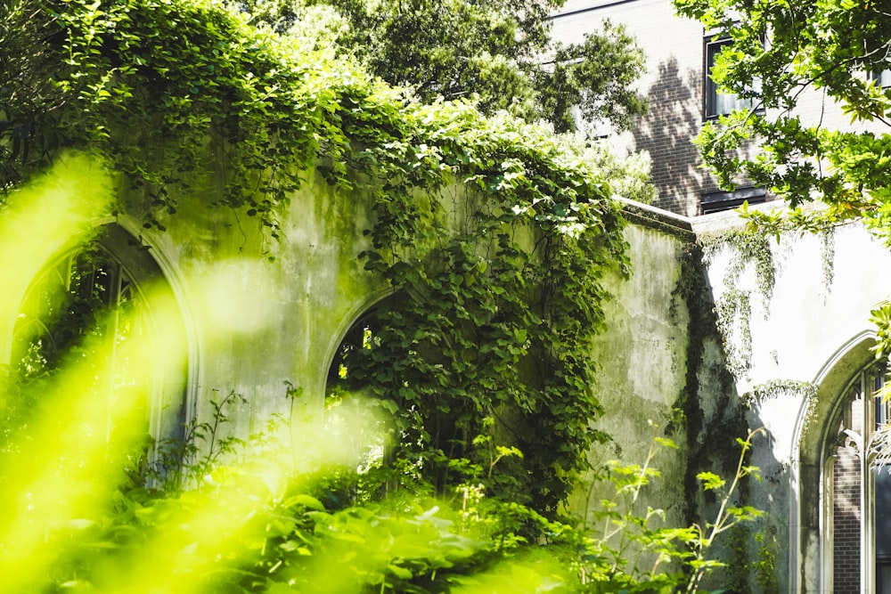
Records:
[[[125,182],[86,221],[127,210],[160,231],[198,194],[277,237],[290,196],[318,175],[370,200],[362,257],[402,297],[343,352],[339,402],[362,389],[387,413],[390,445],[374,468],[323,447],[333,415],[300,427],[316,441],[298,460],[274,426],[249,448],[217,435],[234,394],[146,458],[138,399],[116,398],[118,370],[92,356],[127,342],[117,332],[78,335],[78,356],[42,387],[24,374],[4,400],[41,406],[25,422],[4,418],[0,475],[7,509],[20,510],[0,525],[8,590],[692,591],[715,566],[715,536],[756,516],[730,505],[751,472],[741,458],[713,525],[650,525],[658,513],[634,509],[655,476],[647,466],[613,468],[632,505],[604,510],[607,536],[565,516],[585,454],[607,437],[592,425],[590,346],[604,324],[601,281],[626,267],[619,207],[583,151],[468,103],[418,104],[330,51],[199,0],[22,0],[0,7],[0,23],[9,47],[36,46],[20,65],[0,45],[15,93],[45,92],[33,105],[2,98],[4,215],[27,209],[22,183],[63,149],[101,155]],[[21,270],[20,284],[36,272]],[[20,304],[0,303],[14,319]],[[127,314],[110,312],[90,319]],[[136,342],[128,361],[182,349]],[[49,435],[78,447],[43,452],[35,443]],[[612,533],[666,571],[629,563]]]

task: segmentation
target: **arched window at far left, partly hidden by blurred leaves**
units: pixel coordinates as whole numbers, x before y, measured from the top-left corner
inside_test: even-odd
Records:
[[[103,393],[134,399],[153,443],[181,440],[186,362],[149,363],[145,369],[145,347],[156,350],[159,338],[149,288],[152,298],[175,302],[147,248],[118,225],[106,225],[86,248],[57,257],[31,283],[13,330],[10,367],[22,393],[30,386],[37,388],[30,393],[39,394],[40,383],[52,381],[66,365],[110,370],[103,376]],[[182,319],[172,322],[165,320],[165,339],[185,345]],[[134,373],[137,367],[140,372]],[[103,427],[109,436],[115,428],[113,419]]]

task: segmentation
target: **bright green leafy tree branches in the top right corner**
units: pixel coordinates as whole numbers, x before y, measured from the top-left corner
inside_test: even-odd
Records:
[[[774,232],[862,217],[891,241],[891,89],[875,80],[891,67],[891,3],[674,0],[674,6],[731,37],[711,76],[723,90],[756,100],[751,110],[707,124],[699,136],[722,183],[743,174],[791,207],[827,207],[784,219],[756,216]],[[832,129],[822,118],[806,121],[797,108],[813,92],[818,102],[837,102],[852,124],[866,124]],[[759,146],[755,156],[743,151],[752,141]]]

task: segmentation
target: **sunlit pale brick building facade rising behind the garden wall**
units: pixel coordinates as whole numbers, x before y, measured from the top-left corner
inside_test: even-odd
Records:
[[[654,206],[700,215],[703,195],[719,190],[715,178],[701,168],[692,143],[705,118],[705,44],[715,32],[675,16],[670,0],[568,0],[552,17],[552,33],[564,43],[577,43],[608,19],[625,25],[642,47],[647,71],[637,87],[650,102],[650,113],[611,142],[650,153],[652,183],[658,190]],[[852,126],[850,117],[816,91],[802,95],[797,114],[805,124],[820,121],[827,128],[881,126]]]

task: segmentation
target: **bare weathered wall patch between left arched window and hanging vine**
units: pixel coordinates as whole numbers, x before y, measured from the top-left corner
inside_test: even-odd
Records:
[[[333,191],[308,175],[281,216],[281,240],[257,217],[194,199],[162,221],[166,231],[141,233],[189,321],[189,398],[199,421],[212,414],[210,398],[231,391],[248,401],[234,418],[241,435],[274,413],[289,419],[292,406],[320,409],[340,339],[388,292],[358,257],[371,226],[361,191]],[[293,402],[285,382],[297,390]]]

